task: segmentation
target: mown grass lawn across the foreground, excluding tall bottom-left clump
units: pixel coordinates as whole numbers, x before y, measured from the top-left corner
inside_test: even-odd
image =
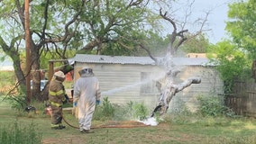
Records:
[[[19,115],[19,116],[17,116]],[[78,120],[64,112],[70,124],[78,126]],[[42,144],[252,144],[256,143],[254,119],[227,118],[182,118],[178,121],[160,122],[157,126],[134,128],[100,128],[109,121],[93,121],[95,133],[83,134],[69,127],[65,130],[50,130],[50,116],[17,114],[6,103],[0,103],[0,125],[9,127],[17,122],[22,127],[33,125],[42,138]],[[195,120],[192,120],[195,119]],[[63,121],[64,122],[64,121]],[[122,121],[120,122],[122,124]],[[126,123],[127,124],[127,123]],[[0,128],[1,128],[0,127]]]

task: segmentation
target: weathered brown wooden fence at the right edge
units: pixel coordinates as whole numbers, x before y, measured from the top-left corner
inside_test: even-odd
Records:
[[[238,115],[256,117],[256,84],[236,81],[234,94],[225,97],[225,105]]]

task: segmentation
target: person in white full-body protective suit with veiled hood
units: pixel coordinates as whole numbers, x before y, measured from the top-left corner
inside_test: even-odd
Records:
[[[73,106],[78,106],[79,130],[82,133],[92,133],[90,130],[96,104],[100,103],[100,87],[93,69],[84,67],[79,72],[80,77],[74,85]]]

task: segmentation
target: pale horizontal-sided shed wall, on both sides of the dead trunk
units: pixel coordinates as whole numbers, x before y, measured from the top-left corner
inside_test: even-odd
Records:
[[[75,81],[78,79],[78,70],[82,67],[92,67],[100,81],[103,97],[108,96],[111,103],[128,103],[129,101],[142,102],[154,108],[158,103],[158,94],[140,94],[142,72],[156,74],[152,79],[163,76],[160,67],[151,65],[121,65],[121,64],[75,64]],[[197,108],[197,95],[223,93],[223,84],[211,67],[183,67],[176,78],[176,83],[181,83],[188,77],[201,77],[201,84],[190,85],[175,97],[187,103],[193,111]],[[152,80],[151,79],[151,80]],[[157,92],[155,87],[155,92]],[[172,102],[175,102],[172,101]]]

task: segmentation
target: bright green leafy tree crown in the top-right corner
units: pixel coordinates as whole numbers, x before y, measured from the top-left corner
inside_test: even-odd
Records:
[[[254,0],[229,4],[229,21],[226,22],[225,27],[233,39],[232,42],[252,59],[256,58],[255,10]]]

